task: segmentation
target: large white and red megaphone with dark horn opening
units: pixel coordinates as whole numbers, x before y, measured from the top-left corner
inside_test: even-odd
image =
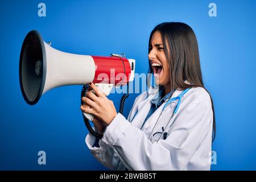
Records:
[[[135,60],[125,56],[77,55],[59,51],[44,42],[38,31],[26,35],[19,58],[19,82],[24,100],[36,104],[48,90],[64,85],[86,85],[94,82],[105,93],[113,85],[134,80]],[[93,115],[84,113],[89,120]]]

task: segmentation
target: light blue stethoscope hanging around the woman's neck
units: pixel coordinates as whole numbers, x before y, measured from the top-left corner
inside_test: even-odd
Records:
[[[171,98],[170,100],[168,100],[168,101],[166,102],[166,104],[163,106],[163,109],[162,109],[162,111],[161,111],[161,114],[160,114],[159,117],[158,117],[158,120],[159,120],[160,116],[162,115],[164,108],[165,108],[167,105],[171,104],[171,102],[177,100],[177,104],[176,104],[176,106],[175,106],[174,112],[172,113],[171,119],[169,120],[169,122],[167,123],[167,125],[166,125],[165,128],[162,127],[163,132],[156,132],[156,133],[153,134],[154,129],[155,129],[157,123],[158,123],[158,120],[157,120],[156,123],[155,123],[155,126],[154,126],[154,128],[153,128],[153,130],[152,130],[152,132],[151,132],[151,134],[150,134],[149,140],[151,139],[151,137],[154,137],[154,135],[156,135],[156,134],[161,134],[160,137],[159,137],[159,139],[160,139],[162,136],[163,136],[163,139],[166,139],[166,138],[167,138],[167,132],[165,132],[165,131],[166,131],[166,129],[168,128],[168,125],[171,123],[172,118],[174,118],[174,115],[177,113],[177,110],[178,110],[179,107],[180,107],[181,97],[183,97],[184,94],[187,93],[189,89],[191,89],[191,88],[187,88],[187,89],[183,90],[183,92],[182,92],[181,94],[179,94],[179,96],[174,97],[174,98]],[[159,139],[156,140],[156,141],[158,142]]]

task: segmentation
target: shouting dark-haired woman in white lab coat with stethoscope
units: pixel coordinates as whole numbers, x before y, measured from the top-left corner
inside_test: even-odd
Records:
[[[160,92],[151,87],[140,94],[126,119],[89,83],[96,95],[87,92],[81,110],[96,116],[94,127],[104,137],[88,134],[86,144],[110,169],[209,170],[214,109],[203,85],[196,36],[185,23],[161,23],[152,30],[148,48]],[[163,107],[181,93],[171,119],[177,100]]]

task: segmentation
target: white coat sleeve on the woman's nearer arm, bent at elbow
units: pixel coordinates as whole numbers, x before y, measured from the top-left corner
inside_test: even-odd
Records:
[[[210,100],[191,102],[180,110],[166,140],[151,143],[143,131],[118,113],[102,140],[129,170],[182,170],[212,129]]]

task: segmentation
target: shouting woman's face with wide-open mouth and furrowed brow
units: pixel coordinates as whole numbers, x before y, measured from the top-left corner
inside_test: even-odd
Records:
[[[162,36],[159,31],[156,31],[152,35],[148,59],[150,60],[152,70],[154,71],[156,84],[168,84],[170,82],[169,65],[167,63],[166,55],[164,54]]]

